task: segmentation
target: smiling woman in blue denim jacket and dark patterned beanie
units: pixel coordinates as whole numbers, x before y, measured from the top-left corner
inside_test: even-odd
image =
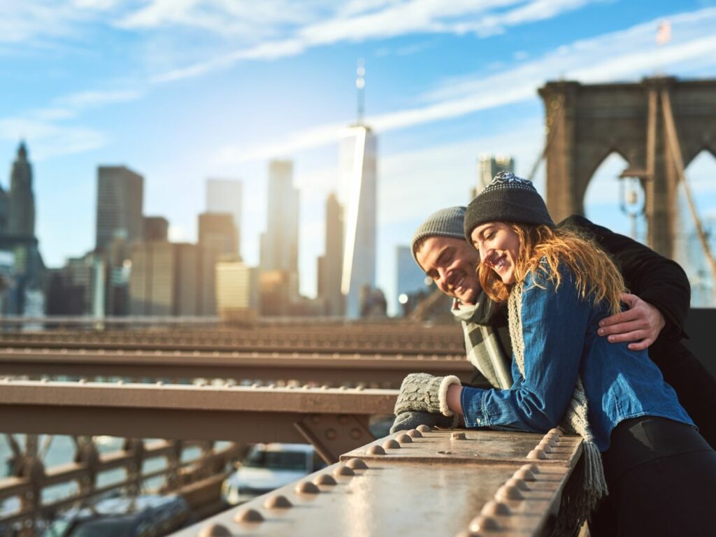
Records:
[[[593,535],[710,531],[716,452],[646,351],[596,335],[599,320],[621,307],[614,263],[589,240],[557,230],[531,182],[511,173],[470,203],[465,235],[480,252],[485,293],[508,303],[516,381],[482,390],[456,377],[409,375],[396,413],[457,412],[468,427],[502,430],[561,425],[584,437],[586,474],[570,523],[606,497]]]

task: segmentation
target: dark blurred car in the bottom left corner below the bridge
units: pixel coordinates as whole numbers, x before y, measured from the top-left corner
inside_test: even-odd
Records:
[[[185,526],[190,516],[188,503],[178,495],[106,498],[66,511],[42,537],[160,537]]]

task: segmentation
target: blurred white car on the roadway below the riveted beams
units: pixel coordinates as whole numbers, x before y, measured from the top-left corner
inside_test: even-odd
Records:
[[[221,485],[221,498],[237,505],[325,468],[308,444],[256,444]]]

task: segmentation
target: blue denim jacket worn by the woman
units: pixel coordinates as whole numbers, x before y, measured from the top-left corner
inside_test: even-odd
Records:
[[[574,274],[564,263],[559,286],[547,270],[538,269],[524,281],[525,377],[513,355],[515,382],[510,390],[463,388],[465,425],[545,432],[561,422],[578,374],[589,403],[592,435],[601,451],[609,448],[611,430],[621,420],[650,415],[693,425],[647,351],[631,351],[626,343],[597,336],[599,321],[609,316],[606,302],[582,299]]]

